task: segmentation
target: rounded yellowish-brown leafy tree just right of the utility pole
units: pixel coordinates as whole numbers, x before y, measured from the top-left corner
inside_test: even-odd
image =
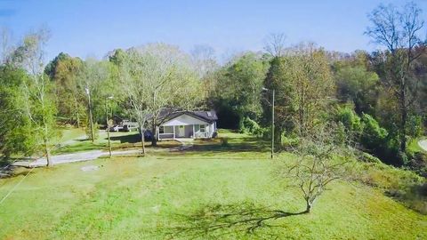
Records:
[[[301,44],[273,59],[264,84],[276,90],[275,112],[280,122],[300,136],[316,127],[334,96],[326,54],[313,44]],[[270,108],[264,109],[270,112]]]

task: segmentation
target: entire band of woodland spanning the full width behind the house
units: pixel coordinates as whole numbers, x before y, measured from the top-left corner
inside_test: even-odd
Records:
[[[420,11],[407,4],[371,12],[365,34],[377,44],[375,52],[326,51],[271,34],[264,51],[240,52],[221,64],[209,46],[187,53],[169,44],[116,49],[102,60],[61,52],[47,62],[49,31],[32,32],[11,44],[4,30],[0,152],[4,161],[12,155],[49,157],[60,126],[85,127],[93,138],[113,116],[133,119],[141,132],[155,131],[164,108],[214,109],[219,127],[270,139],[274,90],[279,151],[333,127],[360,156],[426,176],[426,154],[411,147],[427,127],[427,52]]]

